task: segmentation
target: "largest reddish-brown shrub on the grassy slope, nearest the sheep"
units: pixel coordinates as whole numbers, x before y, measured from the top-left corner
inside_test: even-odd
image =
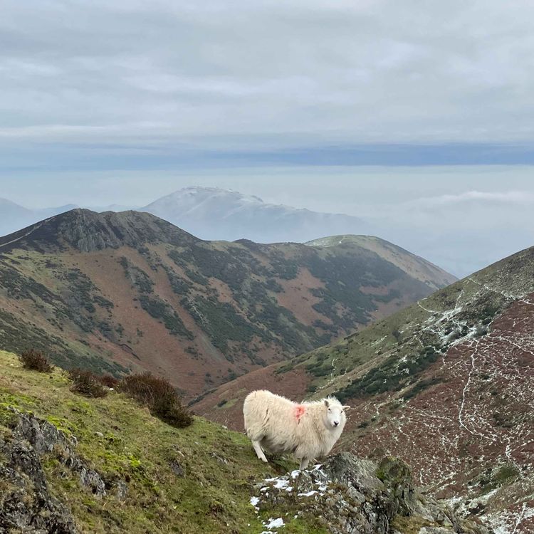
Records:
[[[119,389],[137,402],[145,404],[152,415],[171,426],[180,429],[193,422],[192,415],[184,408],[167,379],[155,377],[150,372],[129,375],[122,379]]]

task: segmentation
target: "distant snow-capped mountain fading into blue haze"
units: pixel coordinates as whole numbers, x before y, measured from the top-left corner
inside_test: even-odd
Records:
[[[216,187],[179,189],[140,210],[203,239],[302,242],[316,236],[370,230],[355,216],[267,204],[258,197]]]

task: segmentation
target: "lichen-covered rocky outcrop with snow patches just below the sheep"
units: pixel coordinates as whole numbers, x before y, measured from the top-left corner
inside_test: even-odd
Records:
[[[332,534],[489,534],[414,487],[409,467],[390,456],[377,465],[343,452],[310,471],[268,478],[253,506],[313,514]]]

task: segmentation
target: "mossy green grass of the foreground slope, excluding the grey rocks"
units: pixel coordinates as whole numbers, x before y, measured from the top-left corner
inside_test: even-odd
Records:
[[[117,392],[79,397],[70,392],[65,372],[23,370],[8,352],[0,351],[0,370],[1,434],[13,423],[7,407],[32,412],[75,436],[78,455],[110,486],[108,495],[97,498],[53,454],[41,460],[52,493],[70,508],[81,532],[259,533],[263,515],[249,502],[253,481],[295,468],[283,460],[262,464],[244,434],[199,417],[192,426],[174,429]],[[174,474],[172,462],[183,476]],[[124,502],[115,496],[117,481],[127,483]],[[314,528],[313,518],[299,517],[283,531],[324,532]]]

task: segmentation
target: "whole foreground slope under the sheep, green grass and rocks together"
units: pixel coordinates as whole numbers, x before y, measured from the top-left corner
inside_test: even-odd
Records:
[[[199,417],[175,429],[117,392],[85,399],[1,351],[0,370],[2,532],[488,534],[422,496],[397,459],[345,452],[286,473],[290,460],[263,464]]]

